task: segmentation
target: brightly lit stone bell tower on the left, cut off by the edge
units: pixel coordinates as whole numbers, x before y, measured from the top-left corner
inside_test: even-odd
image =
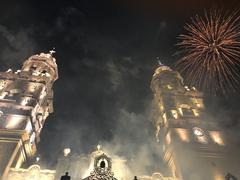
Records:
[[[49,113],[58,78],[52,52],[31,56],[21,70],[0,72],[0,177],[11,168],[29,166]]]

